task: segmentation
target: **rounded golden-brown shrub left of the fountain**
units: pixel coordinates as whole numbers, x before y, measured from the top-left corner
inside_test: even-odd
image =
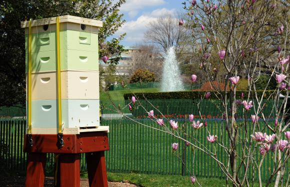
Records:
[[[130,78],[130,83],[134,82],[153,82],[155,80],[155,73],[147,69],[137,69]]]

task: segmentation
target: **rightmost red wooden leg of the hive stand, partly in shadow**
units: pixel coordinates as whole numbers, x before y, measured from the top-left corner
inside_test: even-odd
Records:
[[[107,187],[104,151],[88,152],[85,156],[89,186]]]

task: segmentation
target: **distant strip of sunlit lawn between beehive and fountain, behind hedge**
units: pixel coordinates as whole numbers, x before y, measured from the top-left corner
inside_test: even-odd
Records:
[[[131,89],[133,92],[159,92],[159,88],[137,88],[137,89]],[[131,91],[129,89],[121,89],[121,90],[113,90],[113,91],[104,91],[99,92],[100,100],[108,100],[108,94],[111,97],[112,100],[123,100],[124,93],[130,93]]]

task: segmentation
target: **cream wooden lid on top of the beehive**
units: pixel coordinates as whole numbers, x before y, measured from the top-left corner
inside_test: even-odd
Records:
[[[72,23],[78,23],[78,24],[86,24],[96,27],[102,27],[102,21],[95,20],[95,19],[88,19],[83,17],[77,17],[72,15],[62,15],[59,16],[59,22],[72,22]],[[44,24],[55,24],[56,23],[56,17],[49,17],[44,19],[35,19],[31,21],[31,26],[40,26]],[[21,21],[21,28],[28,27],[28,21]]]

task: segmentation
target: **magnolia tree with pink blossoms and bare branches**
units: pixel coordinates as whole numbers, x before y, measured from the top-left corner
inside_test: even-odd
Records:
[[[197,3],[196,0],[190,0],[182,4],[188,15],[177,24],[191,29],[191,41],[199,53],[199,59],[196,60],[200,61],[200,69],[210,82],[215,80],[217,73],[223,73],[224,84],[229,87],[227,89],[227,86],[218,87],[211,84],[214,91],[207,92],[200,99],[210,99],[212,96],[220,99],[223,108],[221,128],[225,129],[226,134],[223,136],[226,136],[229,143],[223,142],[222,138],[210,132],[200,111],[188,116],[190,128],[192,130],[205,128],[208,135],[203,138],[214,146],[214,151],[207,149],[194,135],[184,138],[182,125],[178,126],[177,121],[170,120],[162,114],[162,118],[156,118],[154,112],[160,111],[153,105],[151,108],[143,107],[135,96],[132,96],[128,104],[129,109],[143,107],[148,112],[148,117],[156,125],[162,126],[161,129],[151,128],[181,139],[186,145],[193,146],[194,149],[204,152],[206,156],[215,160],[220,171],[226,176],[226,185],[229,183],[233,186],[253,185],[254,177],[251,178],[251,183],[248,175],[251,168],[253,172],[258,173],[259,186],[270,184],[288,186],[290,176],[286,172],[286,167],[290,155],[290,131],[287,131],[289,121],[284,119],[289,110],[286,104],[290,89],[287,9],[289,1],[200,0]],[[219,58],[219,64],[213,59],[216,57]],[[263,86],[262,94],[258,94],[255,82],[261,74],[267,74],[269,80]],[[247,77],[248,90],[242,95],[236,95],[236,86],[242,76]],[[276,79],[278,86],[275,90],[266,91],[271,77]],[[192,84],[197,79],[198,77],[193,74]],[[282,99],[281,93],[284,95]],[[273,119],[267,117],[263,110],[267,100],[273,101],[271,102]],[[122,113],[118,107],[115,109]],[[242,115],[237,116],[237,112]],[[253,114],[249,116],[249,113]],[[193,114],[199,115],[199,120],[194,119]],[[238,121],[237,118],[241,120]],[[240,134],[244,136],[241,137]],[[237,151],[238,143],[242,146],[242,151]],[[176,142],[172,142],[171,146],[173,151],[178,149]],[[224,161],[217,156],[215,152],[217,148],[224,150],[227,160]],[[270,151],[273,151],[274,155],[271,158],[273,167],[268,170],[269,177],[266,182],[262,183],[260,168]],[[190,180],[200,185],[194,173]]]

